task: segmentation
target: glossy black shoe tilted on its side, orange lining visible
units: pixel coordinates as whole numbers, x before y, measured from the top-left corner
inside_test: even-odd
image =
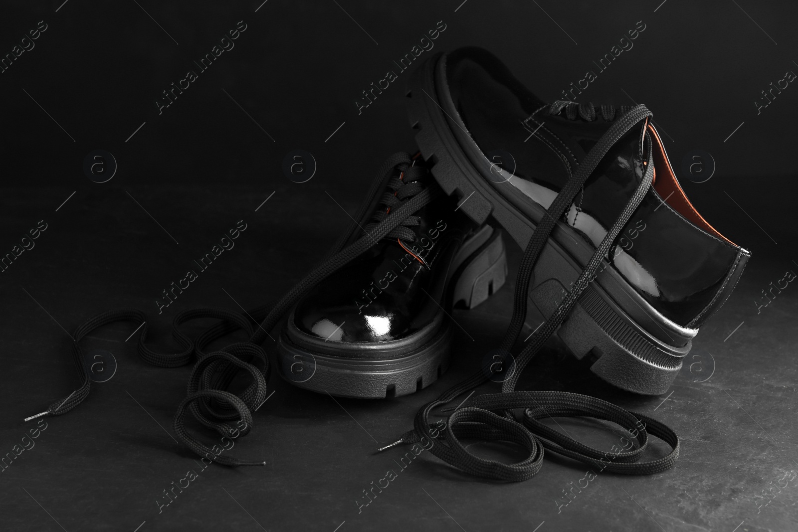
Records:
[[[629,108],[544,103],[484,49],[439,54],[410,80],[410,122],[433,175],[476,223],[492,216],[527,246],[565,183]],[[547,238],[529,298],[550,317],[618,219],[646,170],[646,192],[599,274],[559,328],[591,370],[620,388],[666,391],[698,327],[729,297],[750,254],[716,231],[682,191],[646,118],[602,157]]]

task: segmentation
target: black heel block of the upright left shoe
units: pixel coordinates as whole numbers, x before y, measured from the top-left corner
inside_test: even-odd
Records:
[[[478,246],[476,250],[473,250]],[[456,270],[456,282],[452,291],[452,305],[463,302],[473,309],[490,298],[507,280],[507,254],[504,250],[502,231],[483,227],[460,252],[461,259]]]

